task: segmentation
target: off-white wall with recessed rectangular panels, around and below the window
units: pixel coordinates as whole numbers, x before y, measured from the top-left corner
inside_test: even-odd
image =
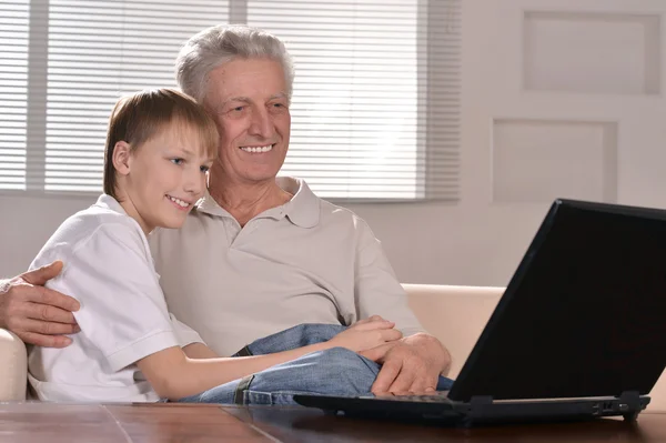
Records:
[[[505,285],[553,195],[666,207],[665,3],[463,0],[462,200],[351,207],[402,281]],[[509,132],[493,131],[494,119]],[[616,133],[595,138],[602,123]],[[519,150],[532,145],[547,163]],[[23,270],[92,200],[0,195],[0,275]]]

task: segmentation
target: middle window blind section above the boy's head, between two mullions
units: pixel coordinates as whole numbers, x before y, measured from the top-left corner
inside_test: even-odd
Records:
[[[99,192],[118,98],[175,88],[182,43],[226,21],[220,1],[50,0],[44,189]]]

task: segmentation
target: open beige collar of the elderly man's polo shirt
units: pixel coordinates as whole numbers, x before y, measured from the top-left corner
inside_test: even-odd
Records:
[[[320,199],[310,190],[305,181],[291,177],[279,177],[275,182],[293,197],[285,204],[271,208],[261,215],[275,220],[286,217],[289,221],[301,228],[316,226],[320,220]],[[208,191],[196,204],[196,210],[210,215],[233,218],[218,204]]]

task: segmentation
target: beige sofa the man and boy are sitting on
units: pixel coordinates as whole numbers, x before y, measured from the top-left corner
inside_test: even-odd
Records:
[[[410,305],[423,326],[437,336],[453,355],[455,377],[472,351],[503,288],[405,284]],[[0,402],[26,399],[26,346],[0,329]],[[653,389],[649,411],[666,411],[666,375]]]

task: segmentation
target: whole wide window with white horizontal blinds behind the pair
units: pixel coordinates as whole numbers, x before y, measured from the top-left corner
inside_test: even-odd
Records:
[[[281,174],[327,199],[456,199],[460,2],[0,0],[0,191],[101,192],[118,98],[175,87],[189,37],[246,22],[296,67]]]

